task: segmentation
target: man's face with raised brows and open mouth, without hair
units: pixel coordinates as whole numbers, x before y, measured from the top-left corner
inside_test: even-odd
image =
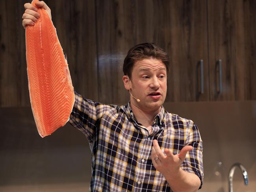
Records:
[[[165,101],[167,91],[167,70],[165,64],[158,59],[143,59],[134,63],[132,79],[129,81],[130,91],[137,102],[131,97],[131,105],[145,112],[160,109]]]

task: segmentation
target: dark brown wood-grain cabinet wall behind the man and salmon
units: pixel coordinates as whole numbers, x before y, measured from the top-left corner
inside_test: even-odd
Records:
[[[21,18],[26,2],[0,1],[1,107],[30,106]],[[67,53],[74,89],[85,98],[126,103],[124,57],[132,46],[154,42],[171,56],[166,102],[256,99],[254,0],[45,2]],[[198,93],[200,59],[204,94]],[[221,94],[218,59],[223,61]]]

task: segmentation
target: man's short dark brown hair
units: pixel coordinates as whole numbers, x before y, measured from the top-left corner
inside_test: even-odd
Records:
[[[128,51],[124,59],[124,65],[122,68],[124,75],[128,75],[128,77],[131,79],[134,63],[136,61],[149,59],[151,57],[161,60],[165,64],[167,72],[169,72],[169,55],[162,48],[156,46],[154,43],[145,42],[135,45]]]

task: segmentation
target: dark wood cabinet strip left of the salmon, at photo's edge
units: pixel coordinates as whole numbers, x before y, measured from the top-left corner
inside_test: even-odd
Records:
[[[25,55],[25,33],[22,28],[24,1],[0,2],[0,106],[29,105]]]

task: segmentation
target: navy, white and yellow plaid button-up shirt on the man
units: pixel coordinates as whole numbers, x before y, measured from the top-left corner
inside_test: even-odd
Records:
[[[152,141],[158,140],[163,151],[177,154],[193,146],[181,168],[203,180],[202,140],[191,121],[168,113],[163,106],[154,118],[152,133],[139,124],[127,105],[105,105],[82,98],[76,100],[70,114],[70,124],[82,131],[92,151],[90,191],[171,191],[163,174],[151,160]]]

